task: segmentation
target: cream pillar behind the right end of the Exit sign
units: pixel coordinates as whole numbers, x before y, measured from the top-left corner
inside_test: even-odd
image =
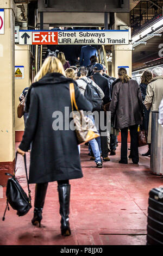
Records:
[[[112,29],[129,29],[130,33],[130,13],[115,13],[115,23]],[[113,45],[112,52],[112,76],[118,77],[118,66],[129,66],[129,76],[132,72],[132,46],[129,45]]]

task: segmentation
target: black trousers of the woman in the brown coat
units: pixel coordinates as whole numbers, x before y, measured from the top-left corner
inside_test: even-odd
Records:
[[[128,162],[128,159],[127,159],[128,128],[130,130],[130,138],[131,138],[131,143],[130,143],[131,159],[134,162],[139,162],[137,127],[138,125],[133,125],[133,126],[121,129],[121,160],[124,162]]]

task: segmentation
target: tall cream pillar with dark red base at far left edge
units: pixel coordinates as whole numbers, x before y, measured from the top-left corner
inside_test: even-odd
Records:
[[[0,34],[0,185],[7,184],[6,172],[14,172],[15,118],[14,118],[14,28],[15,4],[12,0],[0,0],[4,9],[4,34]]]

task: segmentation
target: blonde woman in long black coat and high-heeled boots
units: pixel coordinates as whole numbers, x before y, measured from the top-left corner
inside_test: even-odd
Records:
[[[92,105],[80,93],[74,80],[65,77],[59,59],[47,57],[28,90],[26,111],[28,119],[18,153],[24,155],[32,142],[30,154],[29,183],[35,183],[34,217],[32,224],[42,220],[48,182],[58,182],[61,215],[61,234],[70,235],[70,179],[82,178],[80,157],[75,131],[68,130],[72,111],[70,83],[74,83],[75,97],[79,109],[92,111]],[[58,113],[65,117],[63,128],[56,129]]]

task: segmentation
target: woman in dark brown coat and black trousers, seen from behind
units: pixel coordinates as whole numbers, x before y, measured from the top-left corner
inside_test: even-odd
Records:
[[[143,103],[139,84],[130,79],[125,68],[118,69],[119,80],[115,83],[110,103],[113,127],[121,129],[121,160],[128,163],[127,137],[130,129],[130,155],[133,163],[139,162],[137,127],[142,123]]]

